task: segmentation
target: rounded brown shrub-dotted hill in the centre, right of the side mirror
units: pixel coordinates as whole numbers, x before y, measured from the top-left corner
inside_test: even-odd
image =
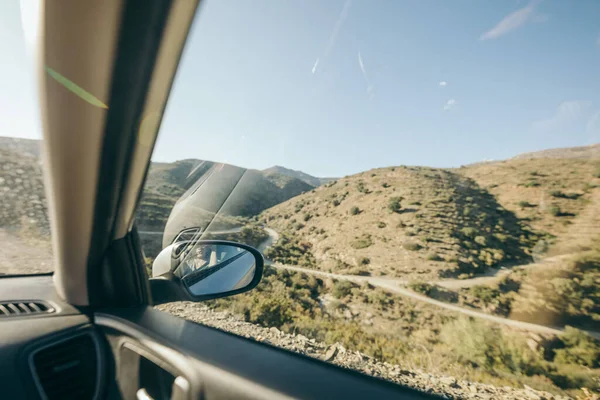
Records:
[[[283,234],[269,254],[276,261],[408,279],[526,263],[539,239],[473,180],[424,167],[333,181],[262,220]]]

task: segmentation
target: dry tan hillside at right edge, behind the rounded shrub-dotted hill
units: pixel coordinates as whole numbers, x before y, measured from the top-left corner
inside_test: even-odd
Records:
[[[454,172],[487,189],[502,207],[539,232],[569,246],[600,234],[590,218],[600,212],[594,200],[600,187],[600,162],[594,159],[511,159],[460,168]],[[586,229],[574,229],[574,224]],[[567,246],[567,247],[569,247]]]

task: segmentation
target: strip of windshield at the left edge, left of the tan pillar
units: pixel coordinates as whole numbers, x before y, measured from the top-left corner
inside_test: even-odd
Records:
[[[0,275],[51,272],[37,86],[37,1],[0,3]]]

